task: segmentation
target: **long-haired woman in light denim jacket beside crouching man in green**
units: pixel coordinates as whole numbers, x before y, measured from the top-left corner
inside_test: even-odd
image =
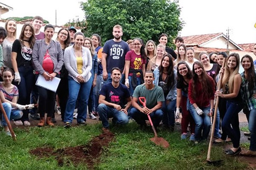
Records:
[[[161,65],[154,70],[154,84],[163,88],[166,101],[163,102],[163,125],[171,131],[175,125],[175,106],[177,98],[177,71],[174,69],[171,54],[164,54]]]

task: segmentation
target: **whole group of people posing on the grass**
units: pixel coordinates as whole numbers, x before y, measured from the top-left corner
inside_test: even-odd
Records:
[[[215,142],[232,141],[233,147],[225,152],[234,156],[241,152],[238,113],[244,108],[251,143],[250,150],[240,154],[256,156],[256,73],[249,55],[241,59],[244,72],[240,75],[238,54],[201,52],[198,60],[181,37],[175,39],[176,50],[166,46],[166,34],[160,35],[157,46],[152,40],[144,46],[140,38],[127,43],[122,40],[122,26],[115,25],[113,39],[102,47],[98,34],[84,37],[71,26],[61,28],[52,40],[54,26],[48,24],[40,32],[42,25],[43,19],[34,17],[32,23],[24,24],[17,40],[15,20],[0,28],[0,66],[4,68],[0,99],[16,125],[30,125],[32,97],[39,98],[38,126],[54,126],[56,93],[35,86],[35,81],[39,76],[46,81],[60,77],[57,99],[66,128],[71,127],[75,108],[79,125],[86,125],[88,107],[89,117],[99,115],[104,131],[109,130],[109,118],[113,124],[134,119],[144,128],[149,115],[155,127],[163,125],[172,132],[182,114],[181,139],[188,137],[190,127],[189,140],[201,142],[209,136],[211,116],[217,110]],[[220,79],[221,90],[216,91]],[[218,108],[215,96],[221,100]],[[3,126],[10,134],[4,118]]]

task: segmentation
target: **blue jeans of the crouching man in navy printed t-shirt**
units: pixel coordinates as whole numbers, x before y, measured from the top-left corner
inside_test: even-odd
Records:
[[[123,111],[118,111],[115,108],[108,107],[101,103],[98,106],[99,117],[102,120],[102,125],[105,128],[109,127],[108,119],[112,118],[113,124],[125,125],[128,123],[128,116]]]

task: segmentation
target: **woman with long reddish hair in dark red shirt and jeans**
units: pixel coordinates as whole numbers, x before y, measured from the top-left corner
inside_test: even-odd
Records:
[[[201,62],[193,64],[193,78],[189,81],[189,111],[195,120],[195,141],[206,140],[211,128],[215,82]]]

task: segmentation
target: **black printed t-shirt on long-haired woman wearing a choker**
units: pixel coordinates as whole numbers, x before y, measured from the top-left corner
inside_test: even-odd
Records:
[[[32,48],[27,48],[26,46],[21,47],[20,40],[15,40],[12,44],[12,52],[17,53],[17,66],[20,67],[21,65],[26,62],[29,65],[32,65]]]

